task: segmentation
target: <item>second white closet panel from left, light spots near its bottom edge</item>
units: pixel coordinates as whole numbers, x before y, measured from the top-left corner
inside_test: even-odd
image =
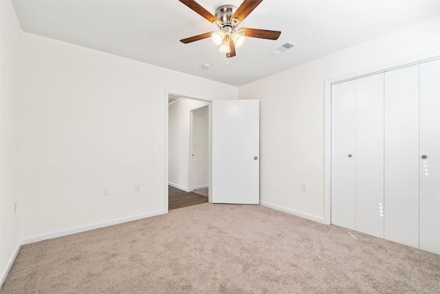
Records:
[[[356,231],[384,238],[384,74],[356,80]]]

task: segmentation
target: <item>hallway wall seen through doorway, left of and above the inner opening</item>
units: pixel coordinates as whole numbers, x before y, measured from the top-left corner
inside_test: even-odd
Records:
[[[190,188],[191,109],[204,105],[208,102],[181,99],[168,106],[168,182],[184,191]]]

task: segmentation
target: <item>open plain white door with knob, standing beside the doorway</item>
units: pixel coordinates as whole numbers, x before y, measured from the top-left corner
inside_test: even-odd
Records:
[[[212,202],[259,204],[259,100],[212,101]]]

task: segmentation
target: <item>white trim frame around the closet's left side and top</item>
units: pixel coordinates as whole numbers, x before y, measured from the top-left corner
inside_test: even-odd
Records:
[[[432,50],[423,54],[410,56],[406,59],[393,61],[384,65],[344,74],[333,78],[325,79],[325,151],[324,151],[324,222],[331,224],[331,85],[354,78],[362,78],[371,74],[396,70],[399,67],[406,67],[417,63],[439,59],[439,50]]]

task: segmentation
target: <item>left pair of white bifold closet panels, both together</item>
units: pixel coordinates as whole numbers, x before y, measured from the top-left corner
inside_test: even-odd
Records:
[[[331,90],[331,222],[384,238],[384,74]]]

